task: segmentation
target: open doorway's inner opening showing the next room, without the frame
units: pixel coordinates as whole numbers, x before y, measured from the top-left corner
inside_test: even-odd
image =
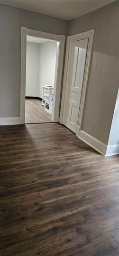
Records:
[[[27,36],[25,123],[52,122],[57,42]]]

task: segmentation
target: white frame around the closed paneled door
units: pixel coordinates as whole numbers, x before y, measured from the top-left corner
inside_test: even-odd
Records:
[[[85,71],[84,71],[84,77],[83,77],[83,84],[82,84],[81,102],[80,102],[79,115],[78,115],[79,126],[77,125],[76,136],[79,136],[81,126],[82,126],[82,116],[83,116],[86,89],[87,89],[88,76],[89,76],[89,70],[90,70],[93,37],[94,37],[94,29],[91,29],[89,31],[82,32],[82,33],[79,33],[79,34],[76,34],[76,35],[73,35],[73,36],[68,36],[66,38],[66,57],[65,57],[65,66],[64,66],[64,79],[63,79],[61,111],[60,111],[60,119],[59,119],[60,123],[63,123],[64,98],[65,98],[66,82],[67,82],[67,71],[68,71],[70,43],[75,42],[75,41],[79,41],[79,40],[82,40],[82,39],[89,39],[88,48],[87,48],[86,63],[85,63]]]

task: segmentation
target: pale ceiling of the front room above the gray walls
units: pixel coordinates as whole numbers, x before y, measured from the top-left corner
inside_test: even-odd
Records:
[[[70,20],[115,0],[0,0],[9,6]]]

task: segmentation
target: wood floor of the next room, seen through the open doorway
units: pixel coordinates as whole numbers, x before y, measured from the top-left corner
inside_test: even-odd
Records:
[[[52,122],[51,114],[45,111],[42,100],[26,99],[25,123],[48,123]]]

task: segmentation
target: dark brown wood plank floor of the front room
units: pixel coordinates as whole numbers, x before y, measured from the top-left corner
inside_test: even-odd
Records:
[[[56,123],[0,126],[0,256],[119,256],[119,156]]]

